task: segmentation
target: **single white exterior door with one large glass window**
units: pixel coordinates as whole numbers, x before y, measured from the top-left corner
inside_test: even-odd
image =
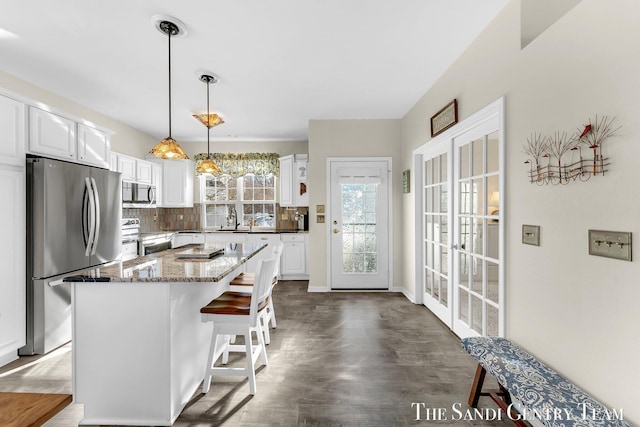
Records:
[[[389,289],[391,161],[329,160],[332,289]]]

